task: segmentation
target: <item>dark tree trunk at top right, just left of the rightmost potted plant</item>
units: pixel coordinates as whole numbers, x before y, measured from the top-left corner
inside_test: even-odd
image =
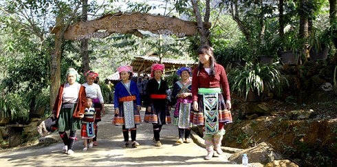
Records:
[[[308,0],[301,0],[300,3],[300,8],[298,11],[298,14],[300,16],[300,30],[298,35],[300,36],[300,38],[303,37],[307,37],[309,36],[309,32],[308,32],[308,27],[309,27],[309,11],[305,12],[305,5],[307,4]]]

